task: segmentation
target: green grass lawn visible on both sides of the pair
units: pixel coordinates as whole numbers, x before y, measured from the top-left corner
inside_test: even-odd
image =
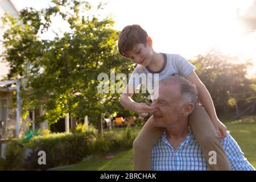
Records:
[[[226,121],[225,125],[245,153],[245,157],[256,168],[256,117],[243,117],[236,121]],[[114,158],[106,159],[106,156],[90,156],[90,158],[84,159],[84,161],[73,166],[55,168],[54,170],[133,170],[132,148],[109,155],[113,155]]]

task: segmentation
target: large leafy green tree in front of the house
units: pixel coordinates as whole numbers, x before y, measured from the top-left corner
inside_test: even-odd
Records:
[[[70,113],[79,120],[89,115],[94,125],[98,121],[101,126],[102,113],[114,113],[122,106],[118,93],[98,92],[101,80],[97,76],[110,75],[110,69],[127,75],[134,65],[117,52],[118,31],[113,28],[112,18],[85,16],[92,8],[88,2],[52,2],[54,6],[39,11],[23,9],[19,20],[9,15],[3,19],[10,26],[3,36],[7,48],[3,57],[10,65],[8,77],[28,78],[23,109],[43,107],[46,114],[39,121],[55,123]],[[40,35],[49,31],[53,16],[61,16],[71,31],[43,40]]]

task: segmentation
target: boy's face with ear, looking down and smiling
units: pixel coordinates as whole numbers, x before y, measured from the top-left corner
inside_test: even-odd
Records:
[[[150,38],[148,37],[147,40],[148,39]],[[127,56],[130,57],[133,63],[146,67],[151,63],[153,59],[153,53],[152,44],[151,42],[147,41],[146,46],[142,43],[134,46],[131,51],[127,52]]]

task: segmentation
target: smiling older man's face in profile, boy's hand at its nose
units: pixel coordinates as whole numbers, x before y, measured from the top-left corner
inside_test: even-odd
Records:
[[[157,127],[167,127],[181,118],[180,85],[159,84],[159,97],[153,100],[151,106],[155,107],[153,112],[153,123]]]

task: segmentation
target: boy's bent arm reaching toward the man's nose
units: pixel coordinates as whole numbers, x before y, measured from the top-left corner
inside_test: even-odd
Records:
[[[146,117],[149,112],[154,111],[154,107],[148,106],[145,103],[135,102],[131,97],[135,91],[135,85],[128,84],[123,90],[123,93],[120,97],[120,104],[128,110],[134,111],[139,114],[141,117]]]

